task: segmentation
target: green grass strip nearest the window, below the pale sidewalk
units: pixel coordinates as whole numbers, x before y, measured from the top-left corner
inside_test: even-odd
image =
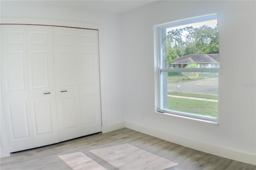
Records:
[[[216,118],[218,102],[168,97],[168,109]]]

